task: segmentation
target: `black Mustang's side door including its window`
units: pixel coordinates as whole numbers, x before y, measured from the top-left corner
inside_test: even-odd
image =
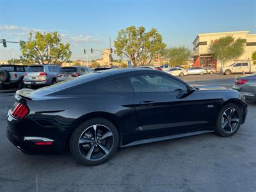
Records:
[[[171,76],[128,77],[144,138],[204,129],[204,95],[188,93],[187,85]]]

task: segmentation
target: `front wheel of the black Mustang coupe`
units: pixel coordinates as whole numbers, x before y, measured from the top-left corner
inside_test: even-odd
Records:
[[[229,111],[232,109],[235,109],[235,111],[232,113],[232,116],[228,118],[228,115],[230,115]],[[228,103],[221,109],[220,114],[218,115],[214,132],[222,137],[233,136],[238,131],[242,118],[239,106],[233,103]]]

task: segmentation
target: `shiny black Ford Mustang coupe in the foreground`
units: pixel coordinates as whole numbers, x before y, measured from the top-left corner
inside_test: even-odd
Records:
[[[241,93],[189,86],[145,68],[105,70],[38,90],[23,89],[7,115],[7,136],[26,154],[62,154],[82,164],[116,148],[216,132],[234,135],[247,105]]]

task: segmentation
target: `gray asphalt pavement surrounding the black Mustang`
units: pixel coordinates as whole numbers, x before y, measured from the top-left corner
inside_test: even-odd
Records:
[[[182,79],[234,83],[234,76]],[[70,154],[27,156],[7,140],[13,92],[0,93],[0,191],[256,191],[256,103],[248,102],[246,122],[231,138],[202,134],[120,148],[107,163],[86,167]]]

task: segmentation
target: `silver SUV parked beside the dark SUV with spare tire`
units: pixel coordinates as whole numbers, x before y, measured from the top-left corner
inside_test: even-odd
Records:
[[[59,70],[56,65],[31,65],[24,74],[24,84],[31,87],[55,84]]]

